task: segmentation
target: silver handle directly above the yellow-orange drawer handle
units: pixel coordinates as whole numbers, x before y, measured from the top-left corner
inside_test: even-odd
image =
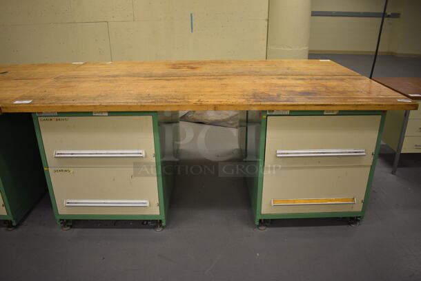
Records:
[[[365,156],[366,149],[277,150],[276,157]]]

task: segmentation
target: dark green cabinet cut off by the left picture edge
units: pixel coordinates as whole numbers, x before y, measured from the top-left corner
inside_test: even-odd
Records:
[[[19,224],[46,193],[30,114],[0,115],[0,220]]]

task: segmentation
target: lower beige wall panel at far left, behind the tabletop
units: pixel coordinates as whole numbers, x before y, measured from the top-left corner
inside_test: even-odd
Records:
[[[107,23],[0,26],[0,63],[110,61]]]

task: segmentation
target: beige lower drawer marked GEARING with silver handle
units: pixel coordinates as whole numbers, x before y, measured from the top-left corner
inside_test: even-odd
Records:
[[[50,169],[59,214],[157,215],[156,168],[135,176],[133,167]]]

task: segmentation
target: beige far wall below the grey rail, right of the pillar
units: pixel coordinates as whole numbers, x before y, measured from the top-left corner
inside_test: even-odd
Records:
[[[311,17],[310,50],[374,52],[380,26],[378,18]],[[389,52],[393,21],[383,25],[379,50]]]

